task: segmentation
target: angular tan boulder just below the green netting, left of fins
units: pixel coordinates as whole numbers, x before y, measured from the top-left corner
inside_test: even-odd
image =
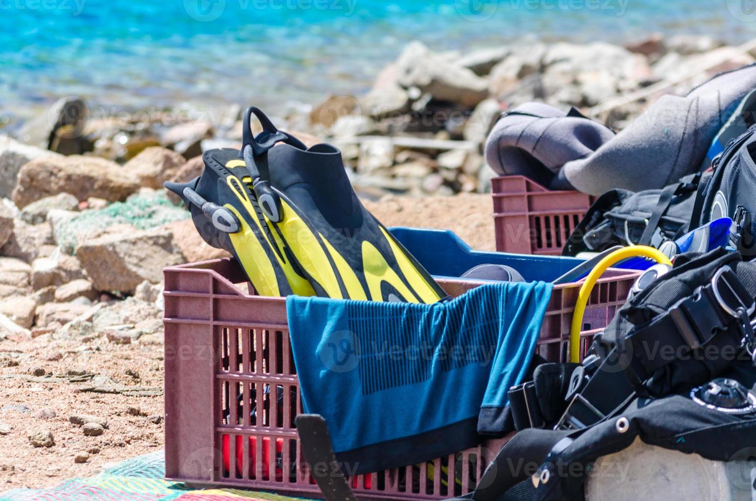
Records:
[[[163,268],[185,262],[166,228],[95,238],[79,245],[76,257],[95,288],[125,294],[134,294],[145,280],[160,282]]]

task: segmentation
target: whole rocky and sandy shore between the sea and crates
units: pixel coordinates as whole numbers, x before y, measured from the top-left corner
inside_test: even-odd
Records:
[[[692,36],[466,54],[414,42],[366,95],[330,96],[274,121],[308,145],[339,146],[387,224],[447,227],[491,248],[493,173],[482,146],[503,110],[538,100],[621,129],[662,92],[686,92],[754,55]],[[690,68],[702,70],[677,78]],[[81,475],[73,465],[98,463],[100,453],[113,460],[162,447],[162,269],[225,255],[162,185],[200,175],[203,150],[238,148],[239,119],[236,105],[126,112],[64,98],[0,136],[0,448],[15,451],[0,461],[0,480],[39,486]],[[102,437],[68,421],[89,409],[110,418]],[[54,468],[24,466],[40,457]]]

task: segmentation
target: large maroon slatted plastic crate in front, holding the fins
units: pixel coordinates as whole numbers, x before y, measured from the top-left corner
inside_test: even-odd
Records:
[[[609,270],[593,288],[583,350],[624,303],[636,277],[637,272]],[[172,266],[165,279],[166,478],[319,496],[294,425],[302,403],[286,300],[246,294],[246,278],[231,259]],[[439,283],[457,296],[480,282]],[[567,356],[578,288],[553,290],[538,341],[538,353],[546,359]],[[443,499],[468,493],[503,441],[359,475],[352,486],[360,498]]]

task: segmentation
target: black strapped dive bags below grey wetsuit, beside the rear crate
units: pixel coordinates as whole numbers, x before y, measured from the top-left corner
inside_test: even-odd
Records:
[[[751,126],[727,143],[705,173],[686,176],[662,190],[607,191],[572,232],[562,254],[575,256],[633,244],[664,251],[665,242],[730,217],[730,247],[751,260],[756,257],[754,200],[756,126]]]

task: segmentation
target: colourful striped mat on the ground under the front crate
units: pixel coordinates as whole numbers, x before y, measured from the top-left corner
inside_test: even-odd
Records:
[[[286,496],[239,489],[193,490],[184,484],[163,480],[163,453],[128,459],[100,475],[72,478],[47,489],[14,489],[0,493],[0,501],[242,501],[261,499],[289,501]]]

